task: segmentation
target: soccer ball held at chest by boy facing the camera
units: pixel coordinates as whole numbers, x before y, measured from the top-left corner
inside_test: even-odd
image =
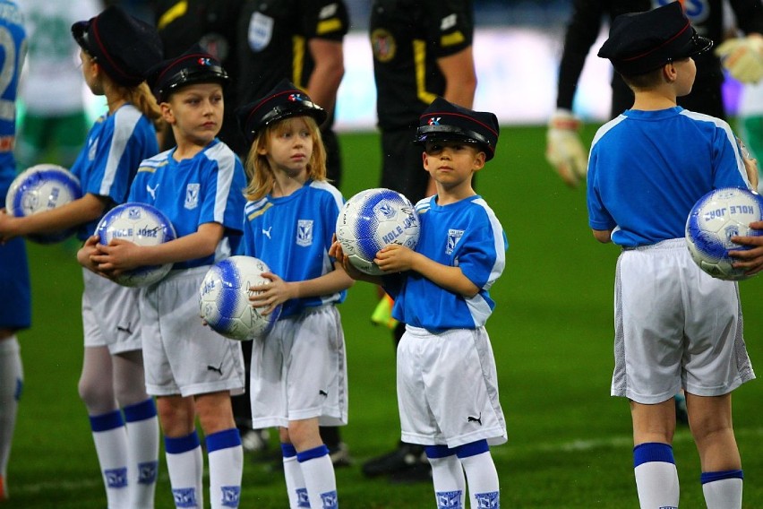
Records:
[[[384,273],[373,258],[384,246],[416,248],[420,222],[408,199],[391,189],[367,189],[345,203],[337,219],[337,240],[360,272]]]

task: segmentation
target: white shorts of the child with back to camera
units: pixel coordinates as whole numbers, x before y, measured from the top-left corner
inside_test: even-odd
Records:
[[[614,304],[613,396],[655,404],[681,388],[717,396],[755,378],[737,284],[702,272],[682,238],[624,250]]]

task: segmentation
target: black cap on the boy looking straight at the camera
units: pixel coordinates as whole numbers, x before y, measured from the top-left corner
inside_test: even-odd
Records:
[[[484,151],[485,160],[492,160],[499,133],[495,114],[463,108],[438,97],[419,117],[414,143],[467,142]]]

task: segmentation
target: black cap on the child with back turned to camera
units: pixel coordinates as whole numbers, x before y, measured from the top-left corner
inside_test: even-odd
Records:
[[[608,58],[623,78],[661,69],[665,64],[696,56],[713,47],[713,41],[697,34],[679,2],[644,13],[615,18],[609,39],[598,56]]]

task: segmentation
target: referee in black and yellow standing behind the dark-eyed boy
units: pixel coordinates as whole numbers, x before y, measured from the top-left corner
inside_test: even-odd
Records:
[[[416,203],[432,194],[421,147],[413,143],[419,116],[437,96],[464,108],[474,102],[474,6],[471,0],[374,0],[369,34],[381,132],[381,187]],[[380,313],[382,309],[386,312]],[[386,322],[380,315],[390,315],[386,297],[374,312],[375,320]],[[397,348],[405,324],[392,325]],[[400,482],[431,479],[424,448],[403,442],[364,463],[363,472]]]

